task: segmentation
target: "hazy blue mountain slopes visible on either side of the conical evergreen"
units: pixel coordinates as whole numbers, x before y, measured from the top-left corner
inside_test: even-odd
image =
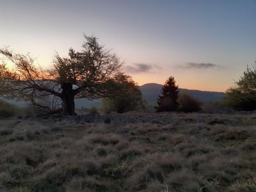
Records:
[[[147,83],[140,86],[140,90],[144,99],[148,101],[148,104],[156,104],[158,95],[161,95],[161,89],[163,84]],[[179,88],[180,93],[188,93],[195,99],[201,101],[218,101],[223,98],[224,93],[221,92],[205,92],[199,90],[188,90]]]

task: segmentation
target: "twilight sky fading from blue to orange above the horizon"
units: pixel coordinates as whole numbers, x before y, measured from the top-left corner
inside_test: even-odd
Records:
[[[256,60],[256,0],[0,0],[0,47],[44,68],[81,51],[83,33],[124,61],[139,85],[225,92]]]

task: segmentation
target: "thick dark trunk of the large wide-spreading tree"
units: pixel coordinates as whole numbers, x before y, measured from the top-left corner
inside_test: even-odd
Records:
[[[71,83],[63,83],[61,85],[61,100],[63,114],[65,115],[76,115],[75,113],[75,101],[74,101],[74,90]]]

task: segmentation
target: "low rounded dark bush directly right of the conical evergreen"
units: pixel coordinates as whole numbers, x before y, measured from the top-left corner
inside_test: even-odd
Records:
[[[179,111],[188,113],[201,110],[202,103],[193,98],[191,95],[188,95],[187,93],[180,94],[178,102]]]

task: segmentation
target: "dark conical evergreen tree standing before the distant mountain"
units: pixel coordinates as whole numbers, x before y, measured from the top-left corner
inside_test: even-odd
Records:
[[[157,98],[158,106],[155,106],[157,112],[175,111],[179,106],[179,103],[177,102],[179,87],[175,84],[174,77],[169,77],[164,83],[161,93],[162,95]]]

